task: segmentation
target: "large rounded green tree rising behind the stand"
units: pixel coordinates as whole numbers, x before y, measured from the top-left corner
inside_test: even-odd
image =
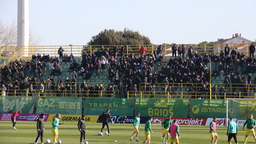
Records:
[[[92,36],[88,45],[150,45],[150,39],[147,36],[134,32],[130,29],[115,31],[114,29],[105,29],[98,35]]]

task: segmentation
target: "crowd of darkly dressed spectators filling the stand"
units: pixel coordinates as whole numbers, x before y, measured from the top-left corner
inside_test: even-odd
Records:
[[[32,55],[31,60],[25,63],[21,61],[11,61],[1,71],[1,85],[4,95],[14,95],[14,90],[25,92],[28,90],[29,96],[38,90],[41,96],[43,93],[50,93],[56,96],[76,96],[99,97],[127,97],[128,91],[132,91],[131,97],[137,97],[137,92],[142,91],[151,97],[155,96],[156,87],[162,88],[168,97],[179,95],[178,91],[187,88],[191,98],[208,99],[210,93],[214,98],[219,95],[238,96],[241,92],[243,96],[249,96],[249,92],[254,92],[253,81],[249,73],[256,71],[256,60],[254,58],[255,47],[253,43],[249,47],[249,57],[240,54],[234,48],[230,53],[228,45],[224,52],[219,54],[210,53],[201,56],[190,47],[186,52],[184,45],[174,44],[171,47],[172,56],[167,65],[163,64],[160,70],[156,64],[163,61],[162,45],[156,47],[153,52],[147,51],[145,46],[140,47],[139,54],[131,52],[124,54],[124,47],[115,45],[112,50],[98,49],[90,54],[82,53],[81,63],[77,63],[74,56],[64,54],[62,47],[59,48],[59,57],[49,57],[49,55]],[[176,53],[178,52],[178,56]],[[252,56],[252,57],[251,57]],[[62,70],[59,62],[68,62],[67,72],[72,76],[72,80],[66,77],[62,81]],[[49,67],[46,67],[49,63]],[[210,63],[212,64],[212,79],[225,77],[221,88],[214,85],[210,92]],[[102,70],[108,69],[108,79],[110,84],[105,90],[104,85],[87,85],[86,80],[92,75]],[[43,73],[49,71],[46,80],[42,79]],[[32,74],[32,78],[29,75]],[[55,81],[54,76],[57,76]],[[82,84],[77,83],[78,76],[84,79]],[[38,80],[37,80],[38,78]],[[162,84],[159,84],[162,83]],[[35,85],[38,85],[37,87]],[[177,88],[178,87],[178,88]],[[179,89],[180,88],[180,89]],[[131,93],[129,93],[131,94]],[[197,97],[195,97],[197,95]]]

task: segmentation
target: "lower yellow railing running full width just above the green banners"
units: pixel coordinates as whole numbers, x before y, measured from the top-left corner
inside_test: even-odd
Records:
[[[2,90],[2,96],[27,96],[27,97],[98,97],[98,98],[137,98],[137,99],[226,99],[226,98],[249,98],[256,99],[255,92],[218,92],[210,95],[209,92],[197,91],[128,91],[119,96],[117,91],[107,90]],[[208,93],[208,94],[206,94]]]

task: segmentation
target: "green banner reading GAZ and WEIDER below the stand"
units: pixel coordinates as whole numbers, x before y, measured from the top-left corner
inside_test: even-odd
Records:
[[[65,115],[82,114],[82,98],[39,97],[37,98],[37,113]]]

